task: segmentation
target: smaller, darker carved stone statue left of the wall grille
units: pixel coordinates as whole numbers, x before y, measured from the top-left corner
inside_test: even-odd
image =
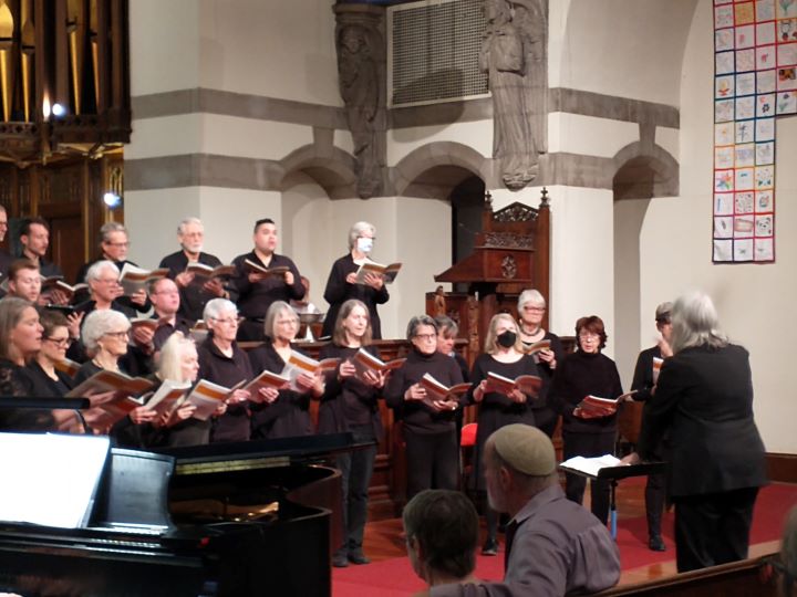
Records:
[[[338,32],[338,76],[354,140],[358,193],[368,198],[381,187],[375,118],[380,102],[376,49],[362,24],[345,24]]]

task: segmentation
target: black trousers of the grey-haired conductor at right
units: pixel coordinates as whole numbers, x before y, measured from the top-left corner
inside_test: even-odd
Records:
[[[758,488],[673,498],[679,572],[747,557]]]

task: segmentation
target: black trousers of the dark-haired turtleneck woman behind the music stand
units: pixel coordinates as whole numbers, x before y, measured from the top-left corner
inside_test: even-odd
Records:
[[[615,431],[605,431],[603,433],[573,433],[571,431],[562,432],[565,460],[577,455],[599,457],[603,454],[614,453],[614,436]],[[583,502],[583,492],[587,489],[587,479],[578,474],[565,474],[565,494],[571,502],[580,504]],[[590,510],[596,517],[607,524],[609,521],[609,481],[590,480]]]

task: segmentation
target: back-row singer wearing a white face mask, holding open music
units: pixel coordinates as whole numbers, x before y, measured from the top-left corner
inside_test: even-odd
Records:
[[[332,264],[332,271],[327,280],[324,301],[330,307],[321,336],[332,335],[341,305],[349,298],[356,298],[369,310],[373,338],[382,338],[382,325],[376,305],[383,305],[390,298],[384,280],[380,275],[366,274],[365,283],[358,284],[355,275],[360,265],[369,259],[375,238],[376,229],[369,222],[356,222],[349,230],[349,253]]]

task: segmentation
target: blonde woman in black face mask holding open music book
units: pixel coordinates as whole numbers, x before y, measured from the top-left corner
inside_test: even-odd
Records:
[[[513,389],[509,394],[498,391],[488,380],[487,375],[498,374],[509,379],[521,375],[538,376],[534,357],[522,352],[522,344],[518,336],[518,326],[508,313],[499,313],[490,320],[485,352],[474,362],[470,380],[473,387],[468,392],[468,401],[479,404],[478,427],[476,431],[476,453],[474,469],[477,489],[486,491],[482,459],[487,438],[505,425],[525,423],[535,425],[535,413],[531,404],[535,395],[524,394]],[[487,540],[482,553],[496,555],[498,553],[498,512],[485,506],[487,519]]]

